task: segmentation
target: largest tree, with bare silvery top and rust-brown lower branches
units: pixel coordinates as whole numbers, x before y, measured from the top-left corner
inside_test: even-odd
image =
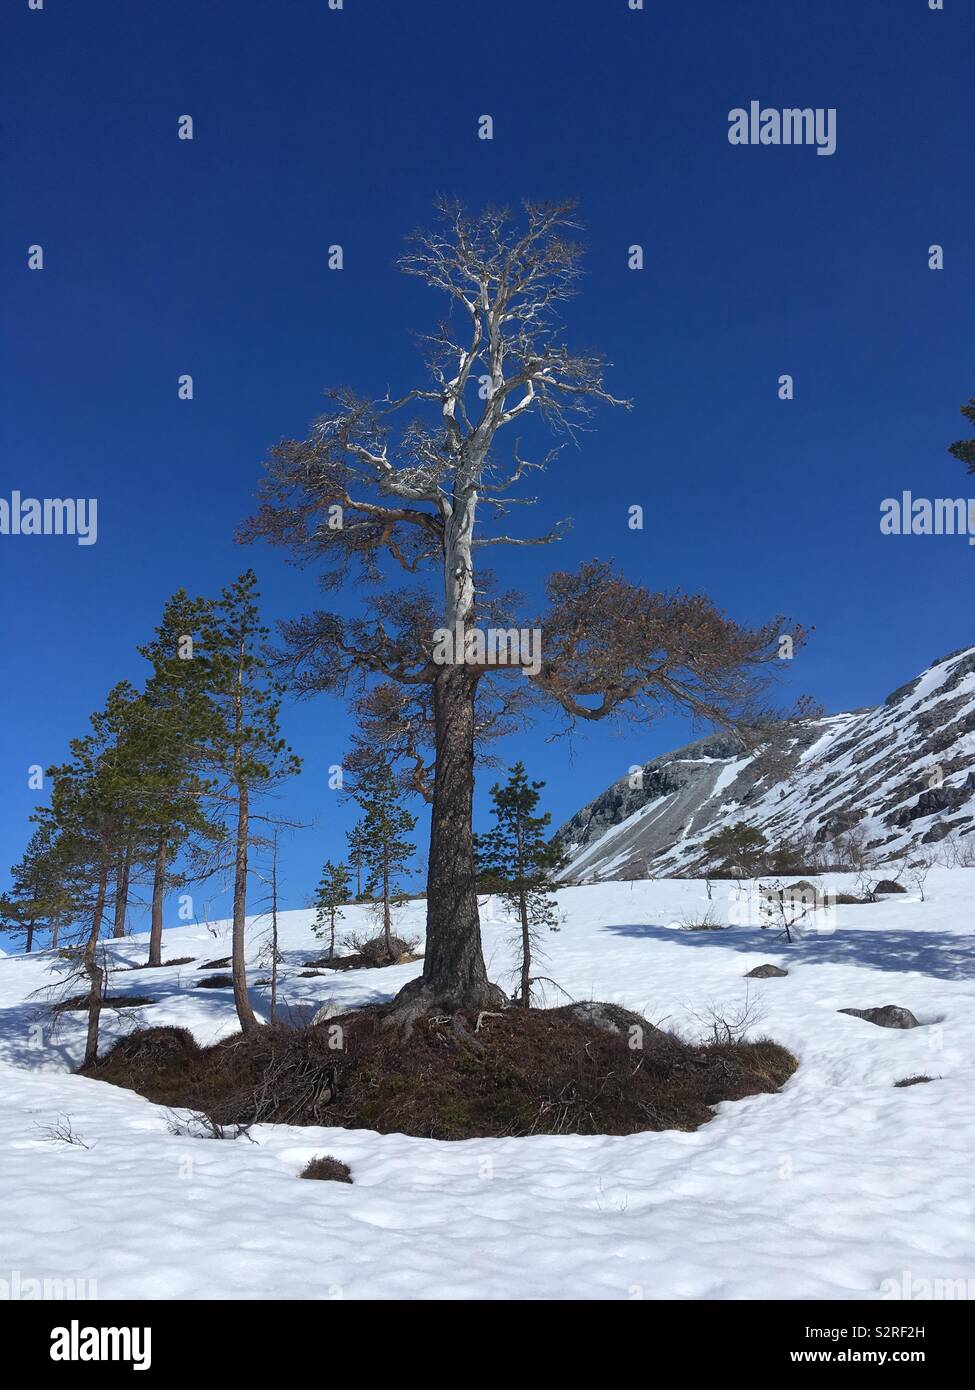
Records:
[[[577,225],[570,203],[529,203],[519,217],[503,208],[470,215],[440,202],[435,227],[417,232],[401,261],[451,313],[423,338],[426,378],[395,398],[331,392],[306,439],[271,450],[259,510],[242,530],[243,539],[263,537],[299,560],[324,562],[325,587],[352,566],[377,587],[359,617],[317,612],[284,632],[300,694],[374,681],[402,688],[391,717],[431,803],[423,976],[401,991],[389,1020],[406,1027],[430,1009],[491,1008],[502,998],[487,979],[477,916],[478,731],[503,723],[524,689],[569,723],[652,719],[668,705],[714,723],[750,720],[777,656],[780,619],[740,627],[705,596],[648,592],[601,562],[548,581],[547,612],[529,624],[542,632],[538,663],[515,645],[503,666],[491,666],[477,642],[469,646],[485,626],[526,626],[512,621],[515,599],[476,574],[477,555],[544,545],[565,531],[498,531],[513,503],[531,500],[512,489],[555,457],[551,448],[526,457],[517,441],[538,427],[574,441],[594,406],[629,404],[604,385],[604,359],[561,336],[559,314],[581,275]],[[513,441],[509,464],[505,439]],[[590,493],[599,467],[588,460]],[[394,589],[394,567],[440,575],[438,591]],[[455,638],[441,660],[435,630]],[[403,719],[408,706],[414,717]],[[433,767],[421,758],[427,738]]]

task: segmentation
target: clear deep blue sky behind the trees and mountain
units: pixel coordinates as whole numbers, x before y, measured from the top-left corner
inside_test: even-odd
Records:
[[[416,382],[410,331],[442,306],[394,261],[437,192],[579,196],[569,332],[636,402],[548,475],[531,525],[572,514],[570,538],[508,552],[505,580],[537,595],[547,569],[604,556],[741,620],[784,612],[815,634],[782,698],[829,710],[972,641],[975,549],[879,532],[885,496],[974,491],[946,453],[975,392],[969,4],[8,0],[3,24],[0,495],[96,496],[99,539],[0,537],[0,869],[38,799],[28,764],[143,674],[135,646],[172,589],[253,566],[268,620],[316,606],[310,573],[234,528],[324,386]],[[836,153],[729,145],[752,99],[835,107]],[[305,771],[277,809],[316,820],[287,853],[302,905],[344,848],[327,769],[348,720],[320,696],[285,724]],[[597,727],[570,759],[549,733],[503,752],[547,780],[556,823],[691,735]]]

